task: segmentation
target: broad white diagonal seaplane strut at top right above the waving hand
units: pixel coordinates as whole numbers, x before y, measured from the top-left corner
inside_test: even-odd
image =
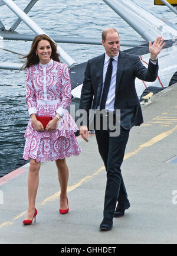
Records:
[[[148,11],[131,0],[103,0],[123,18],[142,38],[154,41],[162,35],[165,40],[177,36],[177,30],[163,21],[155,12]],[[137,1],[143,4],[142,1]]]

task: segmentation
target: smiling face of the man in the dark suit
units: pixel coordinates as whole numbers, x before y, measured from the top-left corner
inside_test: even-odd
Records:
[[[110,58],[117,56],[120,50],[120,40],[117,32],[108,32],[106,35],[106,40],[102,40],[102,45],[105,48],[106,54]]]

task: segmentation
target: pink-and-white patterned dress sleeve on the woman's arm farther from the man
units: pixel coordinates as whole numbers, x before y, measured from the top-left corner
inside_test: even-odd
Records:
[[[29,115],[37,114],[37,101],[35,96],[34,85],[32,83],[30,68],[27,69],[26,102],[28,106]]]

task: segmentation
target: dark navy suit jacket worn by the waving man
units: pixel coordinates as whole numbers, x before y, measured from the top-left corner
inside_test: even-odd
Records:
[[[81,90],[80,109],[97,109],[103,86],[103,65],[105,54],[87,62]],[[139,56],[119,52],[115,89],[114,109],[120,109],[121,125],[130,129],[143,122],[142,109],[135,89],[135,78],[153,82],[158,76],[158,61],[149,60],[148,69],[143,66]]]

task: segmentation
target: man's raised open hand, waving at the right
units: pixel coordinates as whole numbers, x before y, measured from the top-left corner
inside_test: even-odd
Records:
[[[150,58],[151,59],[157,59],[158,54],[162,50],[163,46],[165,46],[164,38],[162,37],[157,37],[156,40],[151,43],[149,41],[149,51],[150,51]]]

